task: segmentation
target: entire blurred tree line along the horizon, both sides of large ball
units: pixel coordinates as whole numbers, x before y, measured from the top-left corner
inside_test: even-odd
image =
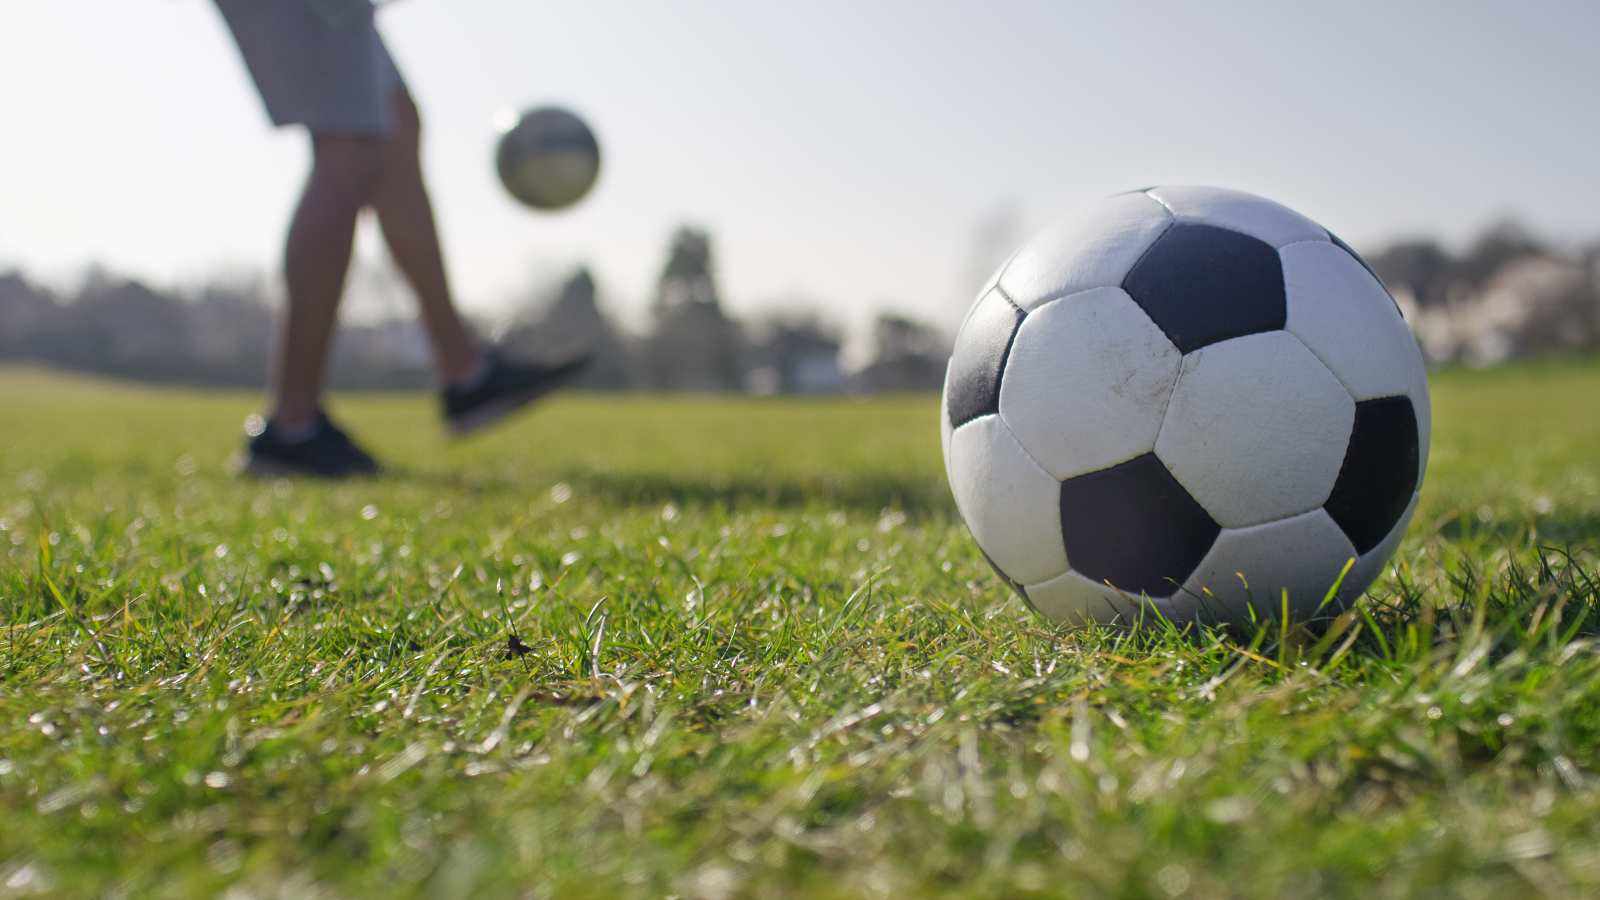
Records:
[[[872,362],[845,372],[843,333],[816,312],[731,317],[704,231],[680,227],[666,256],[643,333],[619,328],[597,301],[590,274],[578,269],[554,296],[498,328],[496,344],[534,360],[592,352],[595,362],[579,386],[597,391],[826,394],[936,391],[942,383],[950,344],[933,325],[880,315]],[[1459,253],[1435,240],[1402,240],[1368,261],[1430,362],[1488,365],[1600,348],[1600,245],[1562,248],[1498,224]],[[96,269],[72,295],[58,295],[19,272],[0,274],[0,362],[254,388],[270,367],[272,319],[261,279],[216,280],[182,293]],[[427,343],[411,320],[346,323],[330,383],[427,388]]]

